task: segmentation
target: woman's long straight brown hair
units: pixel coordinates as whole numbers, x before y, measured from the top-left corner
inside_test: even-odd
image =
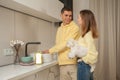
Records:
[[[97,38],[98,31],[94,14],[90,10],[82,10],[80,11],[80,16],[82,19],[82,37],[84,37],[87,32],[91,31],[93,38]]]

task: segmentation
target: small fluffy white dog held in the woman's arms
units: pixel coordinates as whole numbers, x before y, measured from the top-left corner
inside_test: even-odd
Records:
[[[70,48],[70,53],[68,54],[68,57],[70,59],[74,57],[84,57],[87,55],[88,49],[86,47],[78,45],[78,42],[73,39],[70,39],[67,42],[67,47]],[[81,61],[81,59],[79,59],[78,61]],[[95,69],[95,64],[90,66],[91,66],[90,71],[93,72]]]

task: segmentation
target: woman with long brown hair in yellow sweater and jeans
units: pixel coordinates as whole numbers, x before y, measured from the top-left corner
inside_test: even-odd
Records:
[[[84,57],[78,57],[77,80],[93,80],[93,71],[97,62],[98,52],[95,47],[95,39],[98,38],[97,25],[94,14],[90,10],[80,11],[78,24],[81,36],[78,40],[80,46],[87,48]],[[91,67],[93,68],[91,70]]]

